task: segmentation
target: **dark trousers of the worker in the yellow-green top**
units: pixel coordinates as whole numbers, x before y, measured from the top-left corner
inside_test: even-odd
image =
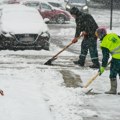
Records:
[[[110,78],[116,78],[117,74],[120,76],[120,59],[112,59],[110,66]]]

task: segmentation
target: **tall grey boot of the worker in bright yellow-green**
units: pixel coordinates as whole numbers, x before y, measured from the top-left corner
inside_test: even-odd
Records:
[[[110,82],[111,82],[111,89],[105,92],[105,94],[116,94],[117,93],[117,79],[111,78]]]

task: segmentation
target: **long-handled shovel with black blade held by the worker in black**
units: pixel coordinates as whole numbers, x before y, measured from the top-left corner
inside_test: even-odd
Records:
[[[81,37],[82,35],[80,35],[77,40]],[[61,51],[59,51],[56,55],[54,55],[51,59],[49,59],[46,63],[44,63],[44,65],[51,65],[52,64],[52,61],[56,60],[57,59],[57,56],[62,53],[64,50],[66,50],[69,46],[71,46],[72,44],[74,44],[72,41],[67,45],[65,46]]]

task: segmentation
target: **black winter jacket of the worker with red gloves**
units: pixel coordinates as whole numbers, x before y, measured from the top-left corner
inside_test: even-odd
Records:
[[[83,12],[76,13],[76,34],[75,37],[80,35],[80,32],[85,31],[88,36],[95,36],[95,31],[98,28],[97,23],[90,14]]]

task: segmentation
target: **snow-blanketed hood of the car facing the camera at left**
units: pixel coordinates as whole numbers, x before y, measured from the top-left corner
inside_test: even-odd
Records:
[[[2,30],[4,32],[11,32],[13,34],[41,34],[42,32],[48,31],[48,27],[46,24],[43,23],[32,23],[32,22],[3,22],[2,23]]]

